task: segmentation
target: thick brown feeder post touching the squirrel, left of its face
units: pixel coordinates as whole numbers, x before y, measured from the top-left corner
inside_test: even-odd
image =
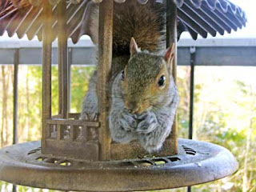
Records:
[[[110,80],[112,62],[113,38],[113,11],[114,0],[105,0],[99,5],[98,28],[98,113],[101,128],[99,130],[100,158],[110,159],[110,131],[107,114],[109,110],[109,97],[106,84]]]

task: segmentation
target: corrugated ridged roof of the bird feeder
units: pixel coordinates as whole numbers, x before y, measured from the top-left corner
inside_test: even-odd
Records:
[[[60,0],[49,0],[53,5],[53,28],[57,27],[56,6]],[[115,0],[125,2],[126,0]],[[89,15],[95,8],[96,2],[102,0],[70,0],[67,3],[67,34],[74,43],[83,34],[90,35]],[[138,0],[146,3],[147,0]],[[161,0],[158,2],[162,2]],[[230,33],[246,26],[245,12],[227,0],[177,0],[178,5],[178,36],[188,31],[193,39],[206,38],[207,34],[216,36]],[[7,31],[12,37],[15,33],[18,38],[25,34],[29,39],[38,36],[42,40],[42,0],[6,0],[0,2],[0,35]],[[57,34],[54,30],[54,38]],[[54,40],[54,39],[53,39]]]

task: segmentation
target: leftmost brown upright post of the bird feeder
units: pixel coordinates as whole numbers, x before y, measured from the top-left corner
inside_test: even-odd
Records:
[[[51,42],[52,7],[42,1],[42,152],[46,149],[46,138],[50,136],[46,119],[51,118]]]

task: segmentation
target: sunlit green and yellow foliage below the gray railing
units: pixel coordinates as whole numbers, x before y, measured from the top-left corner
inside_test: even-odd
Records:
[[[71,112],[80,112],[93,66],[72,66]],[[212,73],[214,71],[214,73]],[[10,68],[10,73],[12,69]],[[226,74],[229,74],[228,76]],[[245,75],[246,74],[246,75]],[[256,170],[256,69],[247,67],[197,66],[194,85],[194,138],[229,149],[238,159],[239,170],[231,177],[193,186],[192,191],[255,191]],[[2,78],[0,79],[2,81]],[[188,137],[190,68],[178,66],[178,135]],[[0,82],[2,83],[2,82]],[[11,88],[12,85],[10,85]],[[11,89],[10,89],[11,90]],[[12,92],[8,91],[8,116],[12,121]],[[2,94],[0,95],[2,101]],[[2,111],[0,105],[0,111]],[[18,84],[18,141],[41,138],[42,67],[20,66]],[[58,67],[52,68],[52,112],[58,114]],[[0,115],[1,116],[1,115]],[[10,128],[11,129],[11,126]],[[11,130],[9,130],[11,135]],[[10,137],[10,136],[9,136]],[[11,138],[6,144],[10,145]],[[245,180],[245,175],[247,180]],[[245,188],[245,183],[246,188]],[[11,185],[0,182],[3,191]],[[246,190],[245,190],[246,189]],[[18,191],[42,191],[18,186]],[[186,188],[162,190],[185,192]]]

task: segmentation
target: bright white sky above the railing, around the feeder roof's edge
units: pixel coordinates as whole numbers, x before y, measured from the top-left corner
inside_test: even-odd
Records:
[[[217,34],[216,37],[212,37],[210,34],[208,35],[208,38],[256,38],[256,0],[230,0],[230,2],[233,2],[235,5],[238,5],[246,12],[247,16],[247,23],[246,27],[242,27],[241,29],[238,29],[238,31],[231,31],[231,34],[225,34],[222,36],[220,34]],[[83,39],[86,39],[88,37],[82,37]],[[190,34],[188,33],[182,33],[181,38],[191,38]],[[201,38],[200,35],[198,35],[198,38]],[[6,41],[6,40],[17,40],[18,37],[15,35],[13,38],[9,38],[8,35],[5,33],[2,37],[0,37],[0,41]],[[27,40],[27,38],[22,38],[22,40]],[[34,40],[37,40],[37,38],[34,38]]]

